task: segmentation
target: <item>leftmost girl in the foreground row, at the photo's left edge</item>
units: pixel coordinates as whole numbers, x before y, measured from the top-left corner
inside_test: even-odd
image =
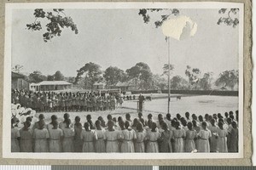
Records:
[[[16,118],[16,117],[15,117]],[[19,152],[20,131],[15,127],[15,118],[11,120],[11,152]]]

